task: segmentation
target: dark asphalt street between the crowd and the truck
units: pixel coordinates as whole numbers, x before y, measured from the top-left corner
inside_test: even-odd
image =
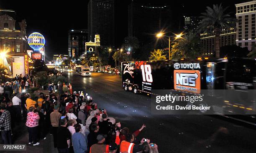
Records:
[[[68,78],[74,90],[88,92],[122,127],[132,132],[146,124],[137,139],[149,138],[160,153],[255,153],[255,127],[217,115],[151,115],[150,97],[125,92],[121,76],[69,73]]]

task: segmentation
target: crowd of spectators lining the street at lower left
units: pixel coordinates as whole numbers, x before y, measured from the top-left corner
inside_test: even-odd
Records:
[[[28,93],[4,89],[0,94],[4,144],[13,143],[13,127],[22,119],[28,128],[28,145],[40,145],[50,133],[59,153],[158,153],[157,145],[149,139],[136,140],[146,125],[131,133],[82,92],[59,96],[40,93],[33,100]]]

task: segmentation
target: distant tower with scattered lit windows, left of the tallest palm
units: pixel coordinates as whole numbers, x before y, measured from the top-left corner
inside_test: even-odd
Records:
[[[200,20],[195,16],[184,17],[184,30],[185,33],[197,33],[197,27]]]

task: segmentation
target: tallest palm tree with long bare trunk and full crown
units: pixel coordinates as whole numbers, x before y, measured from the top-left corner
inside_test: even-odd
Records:
[[[224,29],[236,28],[236,18],[225,13],[227,8],[220,5],[213,5],[213,8],[206,7],[205,13],[201,13],[202,20],[199,22],[198,32],[215,34],[215,57],[220,57],[220,33]]]

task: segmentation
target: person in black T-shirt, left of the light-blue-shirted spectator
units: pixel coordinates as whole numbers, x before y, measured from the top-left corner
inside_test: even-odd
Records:
[[[67,120],[60,120],[60,126],[56,132],[56,147],[59,153],[69,153],[69,147],[71,145],[71,134],[66,126]]]

